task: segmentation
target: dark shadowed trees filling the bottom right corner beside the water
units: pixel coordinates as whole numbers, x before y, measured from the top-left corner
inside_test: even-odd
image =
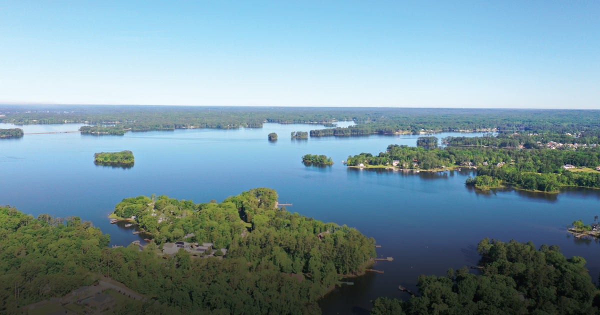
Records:
[[[408,301],[378,298],[371,315],[598,314],[600,290],[582,257],[567,259],[558,246],[485,238],[478,245],[483,275],[463,267],[445,277],[421,275]]]

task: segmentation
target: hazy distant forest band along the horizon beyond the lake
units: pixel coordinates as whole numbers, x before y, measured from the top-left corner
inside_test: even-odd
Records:
[[[122,130],[262,127],[264,122],[355,121],[348,128],[312,130],[311,136],[492,131],[600,133],[597,110],[410,109],[332,107],[52,106],[2,105],[0,122],[117,124]],[[332,127],[327,125],[326,127]]]

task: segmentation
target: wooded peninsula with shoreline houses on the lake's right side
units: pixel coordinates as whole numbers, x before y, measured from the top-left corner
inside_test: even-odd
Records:
[[[599,172],[571,172],[566,164],[595,168],[600,165],[600,147],[569,150],[506,149],[447,146],[422,148],[389,145],[379,155],[361,153],[350,156],[349,166],[388,165],[400,161],[399,167],[435,170],[457,166],[478,167],[477,174],[491,176],[527,190],[557,191],[561,186],[600,188]]]

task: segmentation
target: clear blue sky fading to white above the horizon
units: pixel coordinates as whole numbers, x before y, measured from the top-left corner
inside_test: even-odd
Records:
[[[0,102],[600,109],[600,1],[2,1]]]

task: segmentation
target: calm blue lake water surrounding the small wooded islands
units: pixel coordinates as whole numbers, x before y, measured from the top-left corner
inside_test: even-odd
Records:
[[[340,125],[347,125],[340,124]],[[74,131],[80,124],[25,125],[25,133]],[[470,172],[403,173],[348,169],[341,161],[361,152],[378,154],[390,144],[415,145],[418,136],[323,137],[293,140],[292,131],[314,124],[265,124],[236,130],[175,130],[88,136],[79,133],[28,134],[0,139],[0,204],[37,216],[77,215],[112,236],[114,245],[139,239],[133,227],[111,225],[107,216],[127,197],[166,194],[196,203],[219,202],[254,187],[277,190],[289,211],[347,224],[373,236],[384,274],[353,278],[325,296],[324,314],[367,314],[371,299],[409,297],[421,274],[445,275],[450,267],[474,266],[476,245],[486,236],[509,241],[560,245],[563,253],[587,260],[592,278],[600,272],[598,241],[574,239],[566,224],[592,223],[600,212],[600,190],[560,194],[519,190],[480,193],[464,185]],[[276,132],[279,140],[269,142]],[[437,137],[458,133],[436,134]],[[479,134],[460,134],[477,136]],[[97,166],[95,152],[131,150],[128,169]],[[305,166],[302,155],[325,154],[330,167]]]

